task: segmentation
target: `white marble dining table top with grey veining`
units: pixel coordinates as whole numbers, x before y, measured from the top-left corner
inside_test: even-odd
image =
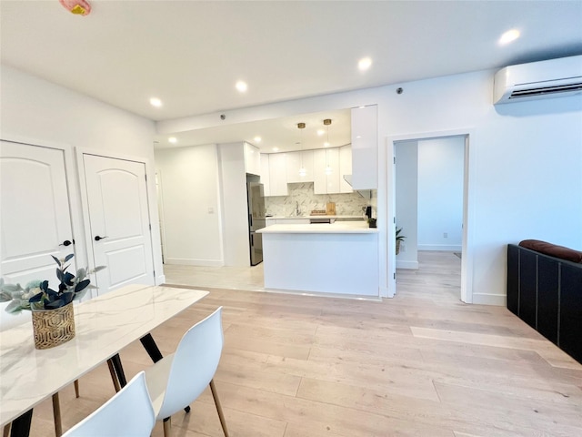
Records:
[[[31,322],[0,332],[1,425],[207,294],[205,290],[128,285],[75,305],[75,338],[42,351],[35,349]]]

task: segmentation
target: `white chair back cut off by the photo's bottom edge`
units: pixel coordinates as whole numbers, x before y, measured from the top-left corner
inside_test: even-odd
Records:
[[[149,437],[156,415],[140,371],[98,410],[63,434],[63,437]]]

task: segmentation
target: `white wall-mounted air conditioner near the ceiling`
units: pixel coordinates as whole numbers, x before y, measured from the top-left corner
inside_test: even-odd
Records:
[[[493,104],[582,93],[582,56],[506,66],[494,78]]]

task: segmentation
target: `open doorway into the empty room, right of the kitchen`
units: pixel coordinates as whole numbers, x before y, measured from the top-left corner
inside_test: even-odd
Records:
[[[394,153],[396,231],[406,236],[396,286],[422,279],[426,292],[460,300],[465,137],[397,141]]]

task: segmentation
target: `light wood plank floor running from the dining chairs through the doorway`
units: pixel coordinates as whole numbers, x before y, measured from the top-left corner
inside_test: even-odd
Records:
[[[581,436],[582,366],[505,308],[460,302],[450,257],[422,254],[381,302],[211,290],[153,335],[173,351],[224,306],[216,388],[234,437]],[[138,342],[121,357],[128,377],[150,365]],[[113,394],[105,365],[81,378],[80,399],[61,391],[64,428]],[[222,435],[209,391],[173,431]],[[49,401],[31,435],[54,435]]]

